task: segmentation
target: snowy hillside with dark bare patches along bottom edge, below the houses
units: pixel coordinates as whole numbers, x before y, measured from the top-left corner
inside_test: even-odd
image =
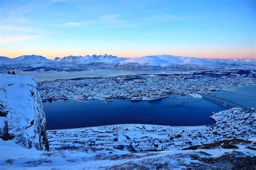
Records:
[[[38,151],[16,144],[2,145],[1,169],[255,169],[255,138],[229,140],[212,148],[158,152],[127,152],[105,147],[79,150]],[[6,143],[6,141],[4,142]],[[235,145],[234,145],[235,144]],[[237,148],[238,147],[238,148]]]

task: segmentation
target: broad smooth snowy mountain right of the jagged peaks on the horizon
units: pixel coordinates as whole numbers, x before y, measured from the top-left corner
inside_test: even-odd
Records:
[[[173,69],[216,69],[228,67],[256,67],[256,60],[200,59],[173,55],[149,55],[124,60],[120,68],[173,68]]]

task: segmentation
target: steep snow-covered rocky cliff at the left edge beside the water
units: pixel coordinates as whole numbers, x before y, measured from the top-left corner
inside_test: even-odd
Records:
[[[36,82],[29,76],[0,74],[0,138],[26,148],[49,150]]]

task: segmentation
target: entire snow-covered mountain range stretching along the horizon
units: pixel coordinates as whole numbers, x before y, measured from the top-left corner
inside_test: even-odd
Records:
[[[256,60],[205,59],[174,55],[149,55],[140,58],[119,58],[114,55],[86,55],[46,59],[41,55],[22,55],[17,58],[0,56],[1,69],[14,68],[87,68],[89,66],[122,69],[240,69],[256,68]]]

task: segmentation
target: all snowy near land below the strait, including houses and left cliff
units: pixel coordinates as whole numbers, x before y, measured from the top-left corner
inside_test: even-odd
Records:
[[[49,130],[50,151],[39,151],[46,148],[46,141],[40,140],[45,137],[45,116],[35,79],[3,74],[0,79],[1,125],[8,124],[1,129],[0,169],[256,168],[254,109],[214,113],[216,123],[205,126],[122,124]],[[5,129],[15,137],[7,140]]]

